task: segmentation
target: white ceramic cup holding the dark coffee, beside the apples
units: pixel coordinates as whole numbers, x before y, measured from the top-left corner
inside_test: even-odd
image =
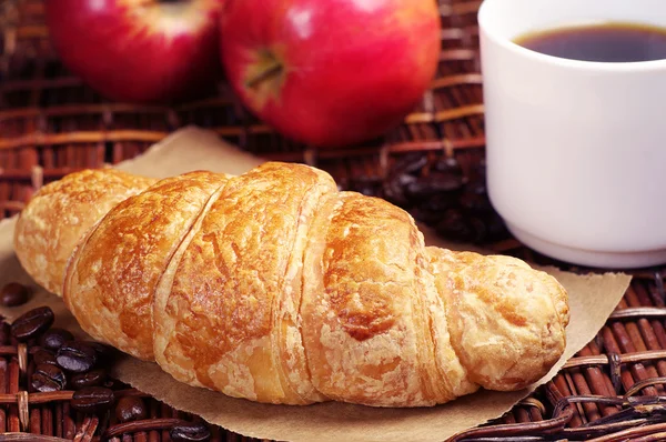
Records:
[[[575,61],[513,42],[601,21],[666,27],[666,1],[483,2],[490,198],[511,232],[546,255],[666,263],[666,60]]]

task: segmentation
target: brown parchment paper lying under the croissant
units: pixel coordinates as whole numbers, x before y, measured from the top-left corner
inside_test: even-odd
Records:
[[[196,169],[238,174],[261,162],[261,159],[221,142],[214,133],[186,128],[118,168],[162,178]],[[21,281],[33,289],[33,295],[20,308],[0,307],[0,314],[13,319],[23,311],[48,304],[57,314],[58,327],[83,334],[62,301],[38,288],[22,271],[11,243],[14,222],[16,219],[0,222],[0,284]],[[430,244],[463,248],[444,243],[428,231],[424,233]],[[119,361],[114,374],[176,409],[249,436],[280,441],[442,441],[500,416],[536,386],[552,379],[567,359],[595,336],[630,280],[628,275],[617,273],[576,275],[551,268],[545,270],[555,275],[569,293],[572,320],[567,328],[567,348],[546,376],[529,389],[517,392],[481,391],[444,405],[422,409],[374,409],[343,403],[289,406],[260,404],[188,386],[174,381],[157,364],[130,356]]]

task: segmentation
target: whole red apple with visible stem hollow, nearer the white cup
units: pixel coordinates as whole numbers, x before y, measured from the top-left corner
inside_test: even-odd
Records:
[[[385,133],[440,56],[436,0],[226,0],[221,56],[244,104],[319,147]]]

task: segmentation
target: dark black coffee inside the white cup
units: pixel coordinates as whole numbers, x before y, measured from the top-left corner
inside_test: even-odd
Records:
[[[640,23],[563,27],[521,36],[514,41],[536,52],[572,60],[636,62],[666,59],[666,28]]]

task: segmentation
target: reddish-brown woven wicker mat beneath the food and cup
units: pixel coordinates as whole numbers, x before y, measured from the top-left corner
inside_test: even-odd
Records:
[[[37,189],[65,173],[133,158],[171,131],[196,124],[263,158],[325,169],[342,187],[390,197],[426,222],[436,224],[447,218],[448,223],[437,227],[453,239],[475,240],[496,252],[542,264],[588,271],[522,247],[496,228],[494,218],[490,223],[474,217],[460,219],[467,212],[418,205],[414,200],[417,185],[410,191],[395,187],[397,172],[408,171],[416,184],[432,192],[433,185],[427,184],[436,181],[438,171],[455,164],[466,187],[455,193],[458,207],[474,205],[484,191],[480,4],[478,0],[440,0],[443,32],[437,78],[403,125],[355,149],[317,151],[273,133],[250,115],[224,84],[205,100],[175,108],[104,101],[59,63],[43,24],[42,1],[1,1],[0,217],[16,214]],[[456,440],[666,440],[666,409],[662,405],[666,401],[664,274],[663,269],[643,269],[634,275],[606,327],[552,382],[492,425]],[[0,348],[0,355],[6,354],[0,356],[0,432],[23,430],[71,438],[91,424],[61,398],[53,398],[27,406],[29,424],[21,429],[21,408],[17,406],[21,394],[2,394],[26,389],[19,362],[11,355],[16,351]],[[110,434],[118,434],[115,440],[164,441],[169,419],[195,419],[150,398],[147,401],[151,424],[115,429],[115,433],[111,428]],[[215,428],[213,440],[251,439]]]

